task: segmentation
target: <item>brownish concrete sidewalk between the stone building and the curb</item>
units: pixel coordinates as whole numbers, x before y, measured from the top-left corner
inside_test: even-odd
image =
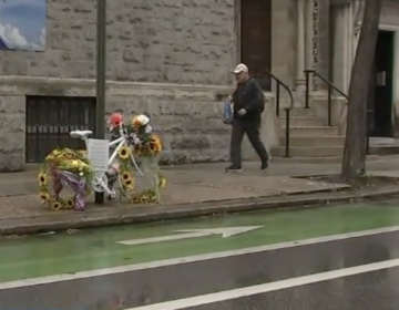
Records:
[[[382,192],[372,188],[371,194],[368,190],[354,196],[338,193],[348,188],[345,184],[293,177],[337,174],[339,164],[273,163],[263,172],[258,163],[245,163],[239,174],[225,173],[225,165],[215,163],[164,167],[168,186],[163,192],[161,206],[125,205],[120,202],[110,202],[104,206],[89,204],[84,215],[72,210],[53,211],[42,206],[38,198],[37,167],[30,167],[23,173],[4,175],[7,177],[0,180],[0,230],[1,234],[20,234],[25,227],[27,232],[31,234],[49,227],[55,229],[57,225],[60,229],[82,228],[84,225],[98,227],[101,224],[345,200],[367,195],[396,194],[399,190],[392,185]],[[399,168],[396,170],[396,167],[399,167],[399,156],[385,156],[368,163],[368,170],[379,176],[399,177]],[[22,230],[17,229],[20,226]]]

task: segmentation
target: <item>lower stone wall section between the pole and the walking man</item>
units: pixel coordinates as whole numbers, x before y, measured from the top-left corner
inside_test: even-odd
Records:
[[[108,112],[149,113],[164,143],[164,164],[221,162],[228,158],[229,126],[222,122],[224,104],[216,96],[229,92],[217,86],[120,84],[110,89]]]

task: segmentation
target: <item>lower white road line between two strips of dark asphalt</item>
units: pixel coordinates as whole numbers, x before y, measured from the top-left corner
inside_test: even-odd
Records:
[[[248,297],[259,293],[266,293],[283,289],[289,289],[311,283],[317,283],[321,281],[334,280],[338,278],[345,278],[350,276],[356,276],[360,273],[378,271],[382,269],[393,268],[399,266],[399,259],[391,259],[380,262],[374,262],[357,267],[344,268],[339,270],[332,270],[327,272],[315,273],[305,277],[291,278],[282,281],[275,281],[253,287],[239,288],[234,290],[221,291],[215,293],[208,293],[203,296],[190,297],[173,301],[166,301],[161,303],[154,303],[150,306],[135,307],[134,310],[180,310],[185,308],[192,308],[203,304],[209,304],[221,301],[226,301],[231,299],[237,299],[242,297]],[[126,310],[133,310],[126,309]]]

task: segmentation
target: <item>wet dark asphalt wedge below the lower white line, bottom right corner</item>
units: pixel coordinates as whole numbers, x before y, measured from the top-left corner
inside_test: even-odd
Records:
[[[396,279],[396,280],[395,280]],[[399,268],[184,310],[397,310]],[[166,309],[165,309],[166,310]]]

